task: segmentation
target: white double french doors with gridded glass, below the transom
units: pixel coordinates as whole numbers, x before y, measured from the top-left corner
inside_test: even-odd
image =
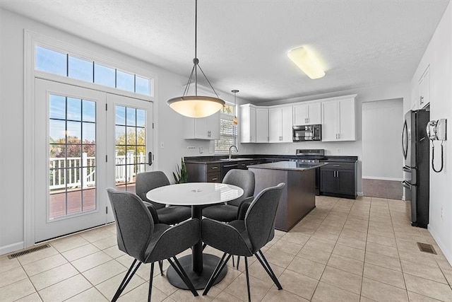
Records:
[[[35,242],[113,221],[107,187],[150,170],[152,103],[35,80]]]

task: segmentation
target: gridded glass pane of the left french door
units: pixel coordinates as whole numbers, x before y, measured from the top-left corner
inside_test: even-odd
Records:
[[[96,209],[95,113],[93,100],[49,94],[49,220]]]

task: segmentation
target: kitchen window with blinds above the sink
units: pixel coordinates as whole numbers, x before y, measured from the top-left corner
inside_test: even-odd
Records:
[[[234,119],[234,105],[226,103],[220,110],[220,139],[215,140],[215,152],[229,152],[230,146],[237,146],[237,126]]]

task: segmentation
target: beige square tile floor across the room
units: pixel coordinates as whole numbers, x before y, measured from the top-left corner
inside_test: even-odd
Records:
[[[317,197],[314,211],[263,248],[283,290],[250,259],[252,301],[452,301],[451,265],[429,231],[410,226],[408,211],[400,200]],[[14,260],[0,256],[0,301],[111,299],[131,263],[115,231],[103,226]],[[439,255],[420,252],[418,241]],[[145,301],[149,272],[142,265],[120,300]],[[174,288],[155,269],[153,301],[246,301],[244,266],[229,267],[204,297]]]

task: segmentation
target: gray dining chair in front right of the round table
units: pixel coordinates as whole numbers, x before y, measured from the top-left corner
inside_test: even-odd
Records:
[[[222,269],[232,255],[244,256],[246,272],[246,289],[248,301],[251,301],[249,290],[248,257],[256,255],[263,269],[273,280],[278,289],[283,289],[275,273],[271,269],[261,248],[275,236],[275,216],[284,182],[275,187],[268,187],[254,198],[249,205],[244,219],[223,223],[205,218],[201,221],[201,240],[223,253],[217,267],[211,275],[203,296],[208,294],[210,287],[218,278]]]

